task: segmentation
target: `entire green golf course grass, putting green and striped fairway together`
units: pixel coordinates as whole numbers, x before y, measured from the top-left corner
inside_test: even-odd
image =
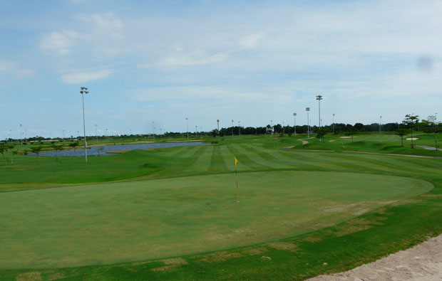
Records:
[[[441,152],[391,134],[306,140],[14,155],[0,169],[0,278],[302,280],[442,232]]]

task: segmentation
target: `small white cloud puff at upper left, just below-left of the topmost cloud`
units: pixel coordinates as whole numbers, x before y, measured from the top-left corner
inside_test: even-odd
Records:
[[[73,45],[73,39],[78,38],[76,31],[53,31],[43,35],[39,47],[44,51],[55,52],[58,55],[66,55]]]

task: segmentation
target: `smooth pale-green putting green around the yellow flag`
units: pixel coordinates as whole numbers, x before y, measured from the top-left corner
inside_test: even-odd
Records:
[[[267,171],[0,193],[0,265],[72,267],[298,235],[425,193],[418,179]]]

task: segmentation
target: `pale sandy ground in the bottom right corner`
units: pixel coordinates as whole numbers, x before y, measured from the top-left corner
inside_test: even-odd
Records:
[[[324,280],[442,280],[442,235],[353,270],[309,279],[309,281]]]

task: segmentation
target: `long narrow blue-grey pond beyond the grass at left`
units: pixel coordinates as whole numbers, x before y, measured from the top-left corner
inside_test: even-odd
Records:
[[[127,150],[135,149],[158,149],[158,148],[168,148],[168,147],[196,147],[203,145],[203,142],[163,142],[154,144],[116,144],[116,145],[102,145],[88,147],[88,156],[98,156],[98,155],[109,155],[111,153],[107,152],[122,152]],[[29,155],[35,155],[34,153],[29,153]],[[40,152],[40,156],[55,156],[56,152]],[[62,150],[57,152],[60,157],[84,157],[84,147],[78,147],[74,152],[73,149]]]

